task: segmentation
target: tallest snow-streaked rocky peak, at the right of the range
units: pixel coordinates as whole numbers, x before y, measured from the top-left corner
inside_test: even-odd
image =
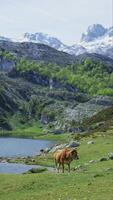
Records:
[[[100,24],[89,26],[82,34],[81,42],[62,49],[69,54],[97,53],[113,58],[113,27],[107,29]]]

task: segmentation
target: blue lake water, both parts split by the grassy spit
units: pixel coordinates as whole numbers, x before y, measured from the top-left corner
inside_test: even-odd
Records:
[[[0,138],[0,157],[27,157],[40,154],[40,149],[45,149],[53,145],[48,140],[33,140],[23,138]],[[31,166],[16,163],[0,163],[0,173],[23,173]]]

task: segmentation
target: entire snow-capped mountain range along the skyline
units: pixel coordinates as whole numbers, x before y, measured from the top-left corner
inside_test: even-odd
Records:
[[[11,41],[1,37],[0,40]],[[14,42],[41,43],[59,51],[78,56],[85,52],[98,53],[113,58],[113,27],[104,28],[100,24],[89,26],[82,34],[81,41],[72,46],[62,43],[59,39],[44,33],[25,33],[21,38],[12,39]]]

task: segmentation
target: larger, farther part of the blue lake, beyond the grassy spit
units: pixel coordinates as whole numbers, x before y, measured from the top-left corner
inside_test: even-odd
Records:
[[[40,149],[52,146],[48,140],[0,138],[0,157],[27,157],[40,153]]]

